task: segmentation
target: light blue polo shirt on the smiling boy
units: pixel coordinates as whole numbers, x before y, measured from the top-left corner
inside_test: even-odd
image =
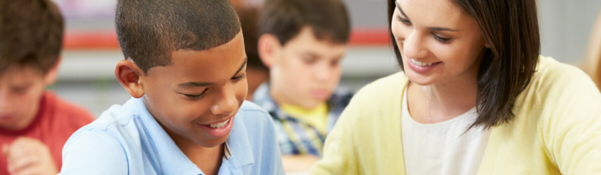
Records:
[[[63,147],[60,174],[204,174],[148,112],[141,98],[112,105]],[[245,101],[219,174],[284,174],[269,114]]]

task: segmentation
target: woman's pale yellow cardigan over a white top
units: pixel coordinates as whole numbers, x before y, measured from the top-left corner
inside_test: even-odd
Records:
[[[311,174],[404,174],[401,99],[409,80],[392,74],[353,97]],[[601,93],[570,65],[540,58],[514,104],[492,128],[478,174],[601,174]]]

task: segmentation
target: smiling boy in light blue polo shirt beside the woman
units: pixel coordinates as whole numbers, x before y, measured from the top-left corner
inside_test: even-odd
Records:
[[[115,26],[133,98],[69,138],[61,174],[284,173],[230,1],[118,1]]]

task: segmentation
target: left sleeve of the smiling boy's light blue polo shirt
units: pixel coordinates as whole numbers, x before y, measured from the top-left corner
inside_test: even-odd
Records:
[[[101,129],[76,132],[63,147],[59,174],[128,174],[123,146]]]

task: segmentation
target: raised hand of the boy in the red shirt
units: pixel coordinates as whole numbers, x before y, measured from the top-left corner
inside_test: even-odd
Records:
[[[3,144],[2,152],[7,156],[10,174],[58,174],[50,149],[40,140],[19,137],[11,144]]]

